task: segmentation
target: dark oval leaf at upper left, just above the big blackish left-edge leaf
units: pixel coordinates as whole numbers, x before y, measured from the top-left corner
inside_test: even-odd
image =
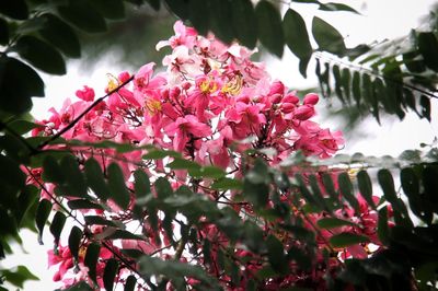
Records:
[[[35,36],[20,37],[13,49],[20,57],[42,71],[50,74],[66,73],[66,62],[59,51]]]

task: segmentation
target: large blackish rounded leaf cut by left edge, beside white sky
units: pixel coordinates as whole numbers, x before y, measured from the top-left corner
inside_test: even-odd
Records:
[[[2,56],[0,71],[1,110],[23,114],[32,108],[31,96],[44,96],[44,82],[30,66]]]

